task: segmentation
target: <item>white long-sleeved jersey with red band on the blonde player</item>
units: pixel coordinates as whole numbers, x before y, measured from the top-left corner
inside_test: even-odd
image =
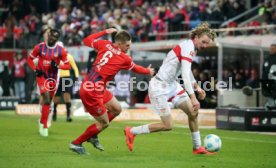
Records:
[[[193,41],[184,40],[167,54],[156,76],[162,81],[172,83],[182,74],[185,89],[189,94],[194,93],[193,88],[191,88],[191,83],[195,82],[191,72],[192,57],[194,55],[195,46]]]

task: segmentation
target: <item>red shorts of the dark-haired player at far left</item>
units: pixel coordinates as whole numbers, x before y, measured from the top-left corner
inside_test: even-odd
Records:
[[[45,79],[44,76],[36,77],[37,86],[40,91],[40,95],[45,92],[50,92],[50,96],[53,97],[57,90],[57,79],[48,78]]]

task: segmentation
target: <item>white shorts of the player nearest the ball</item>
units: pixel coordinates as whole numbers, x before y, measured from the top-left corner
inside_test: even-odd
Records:
[[[167,83],[154,77],[149,82],[149,98],[154,111],[159,116],[168,116],[171,114],[168,102],[171,101],[177,107],[188,100],[189,96],[176,81]]]

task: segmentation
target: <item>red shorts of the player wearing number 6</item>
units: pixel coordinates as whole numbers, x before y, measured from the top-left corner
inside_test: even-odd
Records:
[[[82,86],[79,93],[85,110],[95,117],[101,116],[106,112],[105,104],[113,97],[112,93],[107,89],[102,92],[86,91]]]

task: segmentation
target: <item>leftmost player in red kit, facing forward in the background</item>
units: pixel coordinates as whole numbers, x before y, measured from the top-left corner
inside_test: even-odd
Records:
[[[57,44],[59,36],[58,30],[51,29],[47,41],[36,45],[28,57],[28,64],[35,72],[36,82],[43,97],[39,133],[44,137],[48,136],[47,120],[50,104],[57,89],[58,69],[70,69],[66,50]],[[38,60],[36,65],[34,59]]]

